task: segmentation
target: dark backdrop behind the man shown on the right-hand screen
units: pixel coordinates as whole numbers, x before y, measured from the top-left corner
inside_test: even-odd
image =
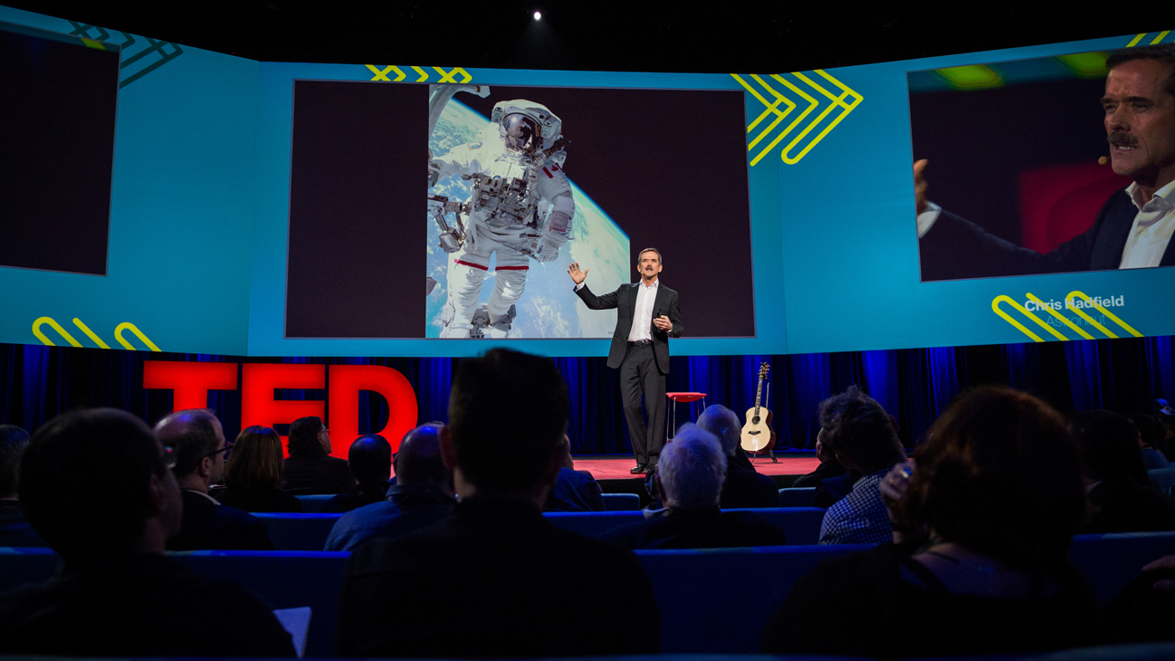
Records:
[[[931,161],[927,199],[1020,245],[1020,173],[1107,155],[1104,92],[1097,78],[912,94],[913,156]]]

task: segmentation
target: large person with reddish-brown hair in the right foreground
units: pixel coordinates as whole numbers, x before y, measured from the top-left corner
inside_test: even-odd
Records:
[[[1093,592],[1066,560],[1086,507],[1080,459],[1055,410],[1008,388],[974,390],[934,423],[914,463],[893,506],[913,538],[800,579],[764,652],[897,659],[1096,642]],[[830,622],[851,622],[852,634]]]

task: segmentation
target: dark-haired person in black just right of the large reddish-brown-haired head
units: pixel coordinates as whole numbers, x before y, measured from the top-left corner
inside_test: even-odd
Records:
[[[1147,476],[1139,430],[1126,416],[1085,410],[1069,421],[1081,448],[1093,512],[1083,533],[1175,530],[1175,499]]]

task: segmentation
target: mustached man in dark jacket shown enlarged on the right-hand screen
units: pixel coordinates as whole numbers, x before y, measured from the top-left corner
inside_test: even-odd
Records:
[[[1040,254],[988,234],[926,200],[926,161],[914,163],[922,280],[1175,266],[1175,45],[1119,51],[1106,60],[1109,162],[1134,179],[1083,234]]]

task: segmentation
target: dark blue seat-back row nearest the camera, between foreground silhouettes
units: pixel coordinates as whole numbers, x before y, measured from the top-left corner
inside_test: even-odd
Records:
[[[603,514],[606,518],[610,513]],[[632,513],[616,514],[634,520]],[[549,516],[558,520],[583,515]],[[652,579],[666,653],[752,653],[758,650],[766,622],[800,576],[825,560],[866,548],[870,547],[638,550],[637,556]],[[1173,553],[1175,533],[1127,533],[1074,538],[1070,557],[1099,599],[1106,601],[1137,576],[1143,565]],[[313,608],[307,656],[334,654],[338,588],[348,555],[233,550],[168,554],[202,576],[243,585],[273,608]],[[56,569],[58,557],[52,549],[0,548],[0,592],[26,582],[43,582]],[[618,621],[618,626],[630,625]],[[1122,656],[1128,657],[1134,656]]]

